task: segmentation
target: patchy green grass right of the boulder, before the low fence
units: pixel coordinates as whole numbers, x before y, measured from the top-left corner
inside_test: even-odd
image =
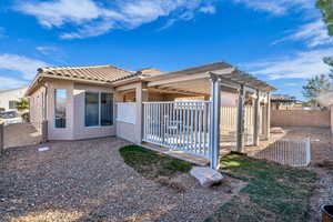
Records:
[[[315,173],[230,154],[222,172],[246,181],[240,195],[206,221],[306,221]]]

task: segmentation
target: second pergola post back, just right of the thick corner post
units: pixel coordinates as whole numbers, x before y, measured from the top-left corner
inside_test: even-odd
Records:
[[[241,85],[241,89],[239,91],[239,110],[238,110],[238,141],[236,141],[236,148],[238,152],[243,153],[244,152],[244,124],[245,124],[245,90],[244,87]]]

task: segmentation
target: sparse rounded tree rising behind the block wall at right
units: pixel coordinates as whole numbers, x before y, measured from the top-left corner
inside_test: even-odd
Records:
[[[306,84],[303,87],[303,97],[309,100],[309,103],[315,104],[317,107],[316,98],[332,90],[332,84],[330,79],[325,74],[316,75],[307,80]]]

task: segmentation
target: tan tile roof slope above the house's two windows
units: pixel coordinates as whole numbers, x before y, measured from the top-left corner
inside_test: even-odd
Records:
[[[43,77],[73,78],[100,82],[114,82],[138,75],[137,72],[112,65],[40,68],[38,72]]]

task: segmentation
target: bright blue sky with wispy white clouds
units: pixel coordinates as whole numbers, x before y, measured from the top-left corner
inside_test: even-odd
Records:
[[[0,89],[39,67],[164,71],[224,60],[302,99],[333,38],[314,0],[1,0]]]

